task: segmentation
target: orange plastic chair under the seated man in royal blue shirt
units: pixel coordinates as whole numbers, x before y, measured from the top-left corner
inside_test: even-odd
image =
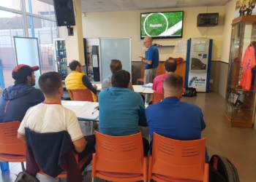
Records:
[[[149,157],[148,180],[208,182],[206,138],[176,141],[154,132],[153,151]]]

